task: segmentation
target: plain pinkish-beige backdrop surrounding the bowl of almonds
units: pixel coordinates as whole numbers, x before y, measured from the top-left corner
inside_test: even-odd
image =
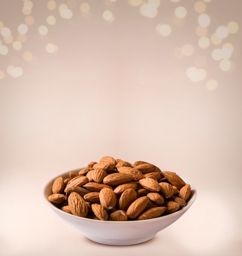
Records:
[[[241,255],[242,2],[83,2],[1,3],[0,255]],[[199,34],[202,13],[210,23]],[[232,32],[214,40],[229,22]],[[199,45],[201,33],[207,40]],[[215,60],[214,49],[226,43],[233,52]],[[195,184],[197,200],[147,243],[89,241],[47,206],[43,187],[105,155],[176,171]]]

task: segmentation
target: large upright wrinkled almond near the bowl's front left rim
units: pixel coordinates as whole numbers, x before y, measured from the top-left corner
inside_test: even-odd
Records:
[[[72,192],[68,198],[69,209],[73,215],[79,217],[87,216],[88,209],[85,200],[76,192]]]

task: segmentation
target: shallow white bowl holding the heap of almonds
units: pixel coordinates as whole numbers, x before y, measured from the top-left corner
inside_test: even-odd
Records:
[[[84,167],[85,168],[85,167]],[[78,173],[82,168],[72,170]],[[164,169],[161,169],[161,171]],[[167,171],[167,170],[166,170]],[[64,179],[69,177],[67,171],[58,177]],[[83,218],[66,213],[54,206],[47,199],[52,194],[52,184],[57,177],[50,180],[44,188],[44,197],[52,210],[69,225],[81,231],[90,240],[105,245],[134,245],[150,240],[159,231],[165,229],[177,219],[179,219],[193,204],[196,199],[197,191],[195,186],[186,178],[179,175],[191,187],[191,196],[185,207],[175,213],[148,220],[128,220],[128,221],[102,221]]]

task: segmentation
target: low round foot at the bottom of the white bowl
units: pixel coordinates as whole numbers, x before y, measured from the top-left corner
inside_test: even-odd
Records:
[[[135,238],[135,239],[109,239],[109,238],[99,238],[99,237],[94,237],[94,236],[86,236],[90,240],[103,244],[103,245],[136,245],[139,243],[146,242],[153,238],[156,234],[152,234],[150,236],[144,236],[140,238]]]

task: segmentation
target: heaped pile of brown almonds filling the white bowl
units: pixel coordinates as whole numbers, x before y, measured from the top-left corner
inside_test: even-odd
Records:
[[[105,156],[69,178],[58,177],[48,200],[59,209],[96,220],[146,220],[186,205],[190,184],[154,164]]]

